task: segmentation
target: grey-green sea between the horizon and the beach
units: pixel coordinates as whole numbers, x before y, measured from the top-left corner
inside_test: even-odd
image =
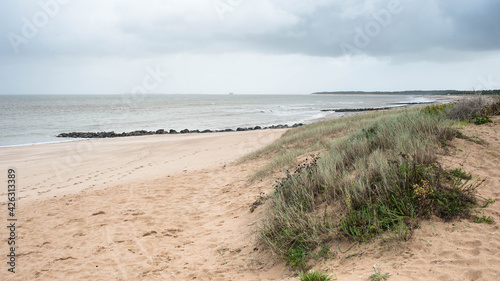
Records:
[[[63,132],[218,130],[310,123],[330,108],[429,102],[396,95],[0,95],[0,146],[69,141]]]

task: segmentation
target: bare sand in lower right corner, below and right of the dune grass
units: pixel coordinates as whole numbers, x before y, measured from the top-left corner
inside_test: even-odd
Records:
[[[500,117],[492,119],[494,124],[462,129],[485,144],[455,139],[440,156],[440,163],[472,173],[473,180],[486,179],[480,196],[496,203],[479,211],[491,216],[494,224],[444,223],[434,218],[422,222],[409,242],[343,245],[343,251],[353,247],[344,254],[337,251],[334,260],[316,268],[335,273],[338,280],[369,280],[373,265],[389,273],[389,280],[500,280]]]

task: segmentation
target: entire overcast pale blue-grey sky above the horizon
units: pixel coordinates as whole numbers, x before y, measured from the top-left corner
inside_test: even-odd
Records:
[[[0,94],[500,88],[498,0],[5,0]]]

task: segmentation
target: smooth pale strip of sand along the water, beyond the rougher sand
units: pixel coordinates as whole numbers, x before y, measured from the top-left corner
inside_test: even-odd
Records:
[[[0,147],[0,169],[18,169],[22,201],[142,182],[222,166],[271,143],[286,130],[172,134]],[[0,203],[7,200],[0,191]]]

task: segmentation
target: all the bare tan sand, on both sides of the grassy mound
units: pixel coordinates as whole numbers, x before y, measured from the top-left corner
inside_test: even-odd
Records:
[[[452,141],[440,157],[486,179],[497,200],[469,220],[423,222],[408,242],[342,243],[315,269],[338,280],[369,280],[373,265],[389,280],[498,280],[500,276],[500,118],[463,129],[481,145]],[[162,135],[0,148],[4,175],[18,177],[16,274],[0,280],[297,280],[255,244],[251,213],[273,179],[249,183],[266,160],[235,160],[284,130]],[[6,185],[6,177],[4,184]],[[6,188],[0,219],[7,220]],[[2,239],[7,229],[0,232]],[[0,253],[7,260],[6,242]]]

